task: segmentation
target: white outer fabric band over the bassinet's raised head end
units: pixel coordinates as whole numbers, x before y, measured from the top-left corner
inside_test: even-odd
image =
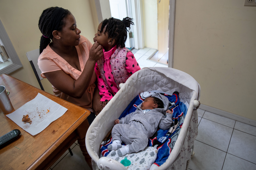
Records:
[[[154,70],[157,71],[159,74],[163,74],[168,78],[171,78],[172,80],[186,86],[187,88],[190,88],[191,90],[195,91],[197,93],[197,100],[200,100],[200,85],[198,82],[189,74],[172,68],[166,68],[166,67],[148,67],[143,68],[141,71],[148,71]]]

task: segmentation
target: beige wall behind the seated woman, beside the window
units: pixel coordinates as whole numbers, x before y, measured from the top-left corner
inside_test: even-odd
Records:
[[[38,21],[43,10],[51,6],[70,10],[81,35],[91,42],[98,27],[94,0],[0,0],[0,4],[0,19],[23,65],[10,75],[37,88],[40,86],[26,52],[39,48],[41,32]],[[52,94],[49,81],[43,79],[42,84],[45,91]]]

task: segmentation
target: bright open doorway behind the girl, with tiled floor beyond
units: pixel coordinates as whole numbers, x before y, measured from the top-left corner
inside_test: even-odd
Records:
[[[97,1],[100,6],[103,4],[102,0],[95,0]],[[133,18],[135,25],[131,26],[128,32],[125,46],[134,53],[139,65],[172,67],[175,0],[108,0],[108,2],[111,17],[120,20],[124,17]],[[105,3],[104,10],[101,10],[102,14],[97,10],[98,18],[99,14],[102,18],[108,18],[109,15],[103,14],[106,13],[106,8]]]

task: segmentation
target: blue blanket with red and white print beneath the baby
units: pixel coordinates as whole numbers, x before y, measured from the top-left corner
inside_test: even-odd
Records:
[[[134,112],[136,110],[136,107],[140,105],[146,97],[148,97],[149,92],[144,92],[144,94],[147,95],[143,96],[142,93],[135,97],[133,101],[131,101],[131,103],[127,106],[125,111],[123,111],[119,119],[125,117],[129,113]],[[164,93],[161,94],[166,96],[169,100],[169,109],[173,113],[172,120],[175,125],[174,128],[170,127],[168,130],[162,130],[158,128],[156,133],[151,138],[149,138],[148,146],[152,146],[158,150],[157,158],[154,162],[156,166],[161,166],[166,161],[166,159],[168,159],[178,138],[178,135],[180,134],[182,124],[188,111],[186,105],[180,101],[178,92],[174,92],[172,96]],[[100,150],[104,157],[109,154],[110,151],[107,150],[107,146],[111,143],[112,138],[110,135],[105,139],[105,141],[102,142]],[[125,145],[124,143],[122,144]]]

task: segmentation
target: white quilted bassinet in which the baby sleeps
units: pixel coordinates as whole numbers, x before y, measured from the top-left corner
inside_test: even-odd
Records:
[[[134,73],[92,122],[86,134],[86,149],[92,158],[94,169],[98,167],[100,144],[113,127],[114,120],[119,118],[134,97],[141,92],[152,90],[171,94],[178,91],[180,98],[189,103],[188,112],[174,148],[166,162],[158,167],[158,170],[186,169],[197,136],[198,118],[197,111],[193,111],[193,108],[194,100],[200,99],[200,86],[189,74],[163,67],[143,68]]]

